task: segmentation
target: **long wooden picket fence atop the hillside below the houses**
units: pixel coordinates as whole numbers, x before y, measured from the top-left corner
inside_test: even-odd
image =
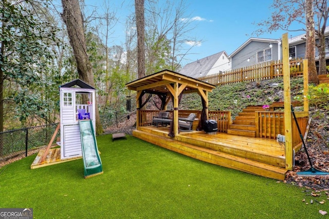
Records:
[[[303,75],[303,60],[296,59],[290,61],[290,76]],[[234,69],[221,73],[198,77],[200,81],[213,85],[228,85],[240,82],[260,82],[265,79],[282,77],[281,61],[264,62],[245,68]]]

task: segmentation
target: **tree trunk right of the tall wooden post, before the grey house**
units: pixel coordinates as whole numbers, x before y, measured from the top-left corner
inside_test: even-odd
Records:
[[[315,28],[313,0],[305,0],[306,16],[306,58],[308,59],[308,81],[319,84],[318,73],[315,66]]]

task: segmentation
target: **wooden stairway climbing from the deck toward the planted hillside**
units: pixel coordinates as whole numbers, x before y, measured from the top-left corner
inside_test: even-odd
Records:
[[[227,129],[228,134],[246,137],[256,136],[255,111],[264,111],[262,106],[248,106],[235,117],[235,120]]]

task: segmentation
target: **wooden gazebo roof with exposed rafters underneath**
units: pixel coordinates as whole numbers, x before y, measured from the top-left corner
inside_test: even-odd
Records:
[[[143,90],[147,93],[170,93],[170,84],[175,82],[186,86],[184,92],[197,92],[198,89],[212,91],[215,88],[212,84],[167,69],[139,78],[125,86],[129,90]]]

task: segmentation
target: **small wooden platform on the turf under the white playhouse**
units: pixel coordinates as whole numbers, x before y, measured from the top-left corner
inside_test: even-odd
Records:
[[[36,155],[33,163],[31,164],[31,169],[46,167],[54,164],[60,164],[68,161],[74,161],[82,158],[82,156],[80,156],[80,157],[61,160],[61,148],[51,148],[48,151],[45,161],[40,163],[41,157],[45,153],[45,150],[46,149],[40,150],[38,155]]]

